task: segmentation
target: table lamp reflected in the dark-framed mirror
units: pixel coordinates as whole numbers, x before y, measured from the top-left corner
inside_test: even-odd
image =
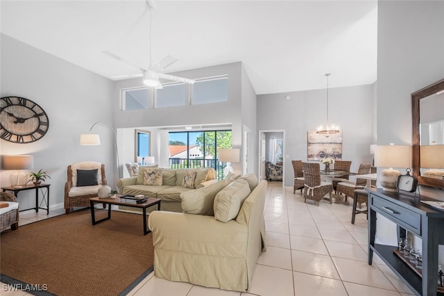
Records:
[[[432,169],[422,173],[422,176],[440,179],[444,177],[444,145],[429,145],[420,147],[420,167]]]

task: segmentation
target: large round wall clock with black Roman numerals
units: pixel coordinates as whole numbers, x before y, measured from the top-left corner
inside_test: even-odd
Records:
[[[48,115],[30,99],[0,99],[0,138],[13,143],[40,140],[48,131]]]

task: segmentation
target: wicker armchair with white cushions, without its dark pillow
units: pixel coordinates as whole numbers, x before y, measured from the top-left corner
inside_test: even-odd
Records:
[[[97,169],[97,185],[77,186],[77,170]],[[95,161],[82,161],[68,165],[67,183],[65,183],[65,212],[68,214],[73,206],[89,206],[89,199],[97,197],[101,186],[106,185],[105,165]],[[105,204],[103,204],[105,208]]]

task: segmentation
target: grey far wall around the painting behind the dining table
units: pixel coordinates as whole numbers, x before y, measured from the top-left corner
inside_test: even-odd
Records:
[[[286,95],[290,99],[285,99]],[[330,123],[343,132],[342,159],[352,161],[352,172],[370,162],[373,143],[373,85],[329,89]],[[307,131],[327,120],[326,90],[307,90],[257,96],[257,129],[285,130],[284,186],[293,186],[292,160],[307,161]]]

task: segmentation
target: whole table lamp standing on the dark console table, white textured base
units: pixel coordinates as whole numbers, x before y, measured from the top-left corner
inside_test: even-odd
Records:
[[[396,181],[401,174],[393,167],[410,167],[411,147],[407,145],[377,145],[375,147],[375,166],[388,167],[388,170],[382,170],[378,177],[382,189],[386,191],[395,191]]]

